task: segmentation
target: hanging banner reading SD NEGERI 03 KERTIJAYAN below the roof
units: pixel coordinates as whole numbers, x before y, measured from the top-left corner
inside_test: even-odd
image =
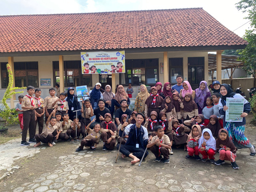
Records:
[[[81,52],[82,74],[125,72],[124,51]]]

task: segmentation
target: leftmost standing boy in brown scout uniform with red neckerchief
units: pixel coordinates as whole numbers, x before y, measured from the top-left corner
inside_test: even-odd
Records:
[[[22,130],[22,141],[21,146],[29,146],[29,143],[36,143],[34,136],[36,134],[36,101],[33,97],[35,88],[33,86],[28,86],[28,94],[24,96],[21,102],[21,108],[23,110],[23,130]],[[27,132],[29,130],[29,143],[26,142]]]

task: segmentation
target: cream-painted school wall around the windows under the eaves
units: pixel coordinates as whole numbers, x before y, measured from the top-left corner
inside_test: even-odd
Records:
[[[197,51],[190,51],[190,52],[168,52],[168,59],[169,58],[183,58],[183,76],[184,80],[188,79],[188,57],[204,57],[205,58],[205,77],[208,77],[208,52],[197,52]],[[64,60],[80,60],[80,55],[68,55],[63,56]],[[163,52],[146,52],[146,53],[127,53],[126,59],[148,59],[148,58],[158,58],[159,59],[159,81],[164,84],[164,74],[160,74],[160,63],[164,62],[164,53]],[[59,56],[25,56],[25,57],[14,57],[14,62],[38,62],[38,80],[39,80],[39,88],[42,90],[41,97],[44,98],[49,94],[49,88],[54,87],[53,84],[53,67],[52,62],[58,61]],[[0,62],[8,62],[8,57],[0,57]],[[169,62],[169,60],[168,60]],[[169,66],[169,63],[168,63]],[[1,75],[1,74],[0,74]],[[51,86],[41,86],[40,79],[41,78],[50,78],[51,79]],[[92,74],[92,85],[95,85],[99,81],[98,74]],[[207,81],[207,79],[206,79]],[[119,75],[116,75],[116,84],[119,84]],[[1,85],[1,78],[0,78],[0,85]],[[113,86],[115,87],[115,86]],[[93,87],[88,87],[90,90]],[[126,89],[127,87],[125,87]],[[6,89],[0,89],[0,100],[4,95]],[[19,90],[17,90],[19,91]],[[114,91],[114,88],[113,88]],[[24,90],[24,95],[26,95],[26,90]],[[138,94],[138,88],[134,87],[134,93],[132,95],[133,98],[136,97]],[[18,95],[16,95],[16,102],[18,102]]]

